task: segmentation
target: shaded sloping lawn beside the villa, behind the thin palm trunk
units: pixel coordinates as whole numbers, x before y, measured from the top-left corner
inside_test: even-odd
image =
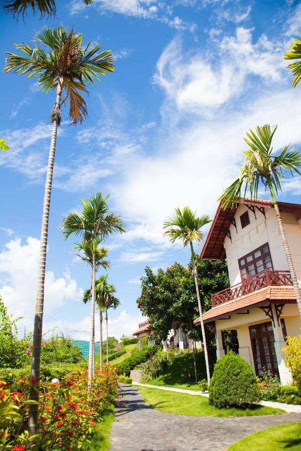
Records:
[[[204,351],[198,351],[197,353],[197,372],[199,380],[206,378]],[[188,377],[188,373],[191,374],[191,377]],[[200,390],[195,381],[192,352],[176,355],[161,376],[147,383],[150,385],[184,388],[186,390]]]

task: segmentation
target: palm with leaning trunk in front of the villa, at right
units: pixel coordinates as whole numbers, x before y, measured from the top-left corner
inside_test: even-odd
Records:
[[[287,145],[281,150],[279,155],[272,155],[273,148],[271,144],[276,129],[277,125],[271,127],[269,124],[266,124],[263,127],[257,126],[256,133],[252,130],[247,133],[247,138],[244,138],[244,140],[249,148],[244,151],[245,162],[239,171],[239,177],[225,189],[219,200],[222,200],[222,208],[224,209],[235,207],[241,197],[246,197],[247,189],[250,190],[251,199],[255,200],[257,199],[260,183],[265,191],[268,190],[270,192],[301,317],[300,289],[276,198],[278,191],[281,191],[280,179],[286,178],[286,171],[290,171],[292,175],[293,172],[301,175],[298,170],[301,166],[301,153],[295,148],[289,150]]]

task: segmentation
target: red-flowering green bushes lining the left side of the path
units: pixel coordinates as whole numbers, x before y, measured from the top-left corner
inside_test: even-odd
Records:
[[[0,382],[0,448],[13,451],[32,449],[29,437],[29,391],[39,390],[39,433],[33,449],[64,449],[86,447],[93,428],[105,410],[118,396],[114,368],[96,371],[90,393],[87,392],[87,368],[65,376],[60,383],[47,380],[40,385],[23,377],[15,382]]]

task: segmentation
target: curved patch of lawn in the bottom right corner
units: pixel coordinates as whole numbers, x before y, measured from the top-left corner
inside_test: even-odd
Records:
[[[301,423],[280,424],[269,427],[229,446],[227,451],[278,451],[301,449]]]

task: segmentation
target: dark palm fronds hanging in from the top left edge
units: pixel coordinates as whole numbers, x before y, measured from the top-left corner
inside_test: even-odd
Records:
[[[85,5],[91,5],[93,0],[83,0],[83,3]],[[5,12],[13,14],[13,17],[16,19],[19,18],[20,14],[24,19],[24,16],[27,15],[28,8],[31,8],[34,14],[39,11],[41,18],[56,15],[55,0],[7,0],[4,5]]]

